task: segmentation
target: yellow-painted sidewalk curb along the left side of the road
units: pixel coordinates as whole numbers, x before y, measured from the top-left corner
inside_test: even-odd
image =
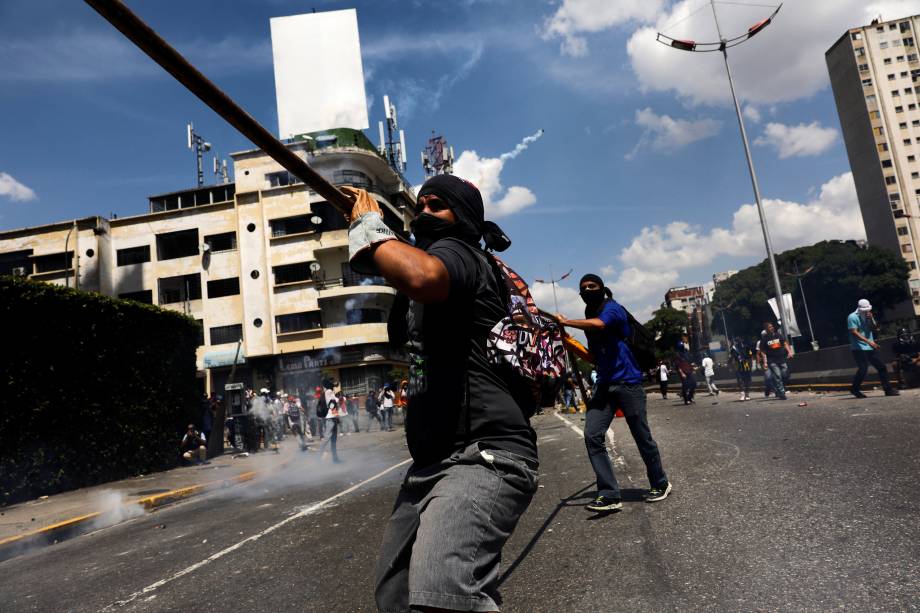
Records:
[[[155,494],[153,496],[137,498],[135,500],[126,502],[124,505],[122,505],[122,508],[142,506],[144,507],[145,511],[152,511],[159,507],[167,506],[174,502],[179,502],[180,500],[185,500],[199,494],[233,487],[234,485],[238,485],[240,483],[252,481],[258,477],[260,473],[268,473],[269,470],[278,470],[279,468],[287,466],[290,462],[291,460],[285,460],[280,465],[274,466],[271,469],[265,469],[262,471],[251,470],[236,475],[235,477],[218,479],[216,481],[209,481],[207,483],[200,483],[197,485],[190,485],[187,487],[170,490],[168,492]],[[88,531],[88,528],[92,524],[93,520],[102,517],[105,515],[105,513],[106,512],[103,511],[96,511],[86,515],[79,515],[77,517],[71,517],[70,519],[56,522],[49,526],[31,530],[24,534],[18,534],[16,536],[0,539],[0,562],[14,558],[31,547],[51,545],[72,538],[74,536],[79,536],[80,534]]]

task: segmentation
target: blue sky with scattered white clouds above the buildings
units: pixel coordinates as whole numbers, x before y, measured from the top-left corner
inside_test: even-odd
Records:
[[[269,18],[357,8],[371,125],[389,94],[408,178],[421,182],[417,152],[443,133],[458,174],[480,185],[513,239],[514,268],[530,280],[550,267],[602,272],[641,316],[669,286],[764,254],[718,55],[654,42],[656,29],[714,40],[705,4],[129,2],[272,131]],[[729,32],[769,13],[718,9]],[[873,15],[918,12],[916,0],[791,0],[733,53],[778,248],[863,236],[824,51]],[[137,214],[148,195],[192,186],[188,121],[222,154],[251,146],[83,3],[0,1],[0,228]],[[376,129],[368,135],[377,140]],[[534,289],[551,300],[548,287]],[[570,313],[575,291],[566,282],[559,292]]]

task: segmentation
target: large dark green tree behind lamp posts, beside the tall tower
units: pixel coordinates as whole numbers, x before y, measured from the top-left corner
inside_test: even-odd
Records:
[[[907,288],[909,269],[897,255],[878,247],[863,248],[854,241],[823,241],[799,247],[776,256],[780,283],[784,293],[792,294],[793,308],[803,340],[810,340],[802,295],[795,278],[784,274],[814,266],[802,279],[815,338],[825,346],[847,342],[846,317],[856,308],[856,301],[867,298],[879,319],[886,310],[910,298]],[[767,304],[772,298],[773,279],[767,261],[742,270],[719,284],[713,305],[731,305],[725,310],[729,333],[756,337],[764,321],[776,321]],[[714,318],[713,329],[721,327]]]

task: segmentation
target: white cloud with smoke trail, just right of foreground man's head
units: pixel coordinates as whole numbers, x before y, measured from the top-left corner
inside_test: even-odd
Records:
[[[501,173],[505,162],[513,160],[531,143],[542,136],[543,130],[524,138],[514,149],[497,158],[480,157],[475,151],[464,151],[454,162],[454,174],[479,188],[486,209],[486,218],[498,218],[517,213],[537,202],[532,191],[520,185],[507,190],[502,186]]]

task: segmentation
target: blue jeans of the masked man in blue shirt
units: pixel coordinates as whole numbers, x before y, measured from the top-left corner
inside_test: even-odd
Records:
[[[645,471],[649,485],[663,487],[668,477],[661,467],[661,454],[658,445],[652,439],[645,413],[645,390],[639,383],[598,385],[597,393],[588,404],[585,417],[585,447],[588,459],[597,478],[597,495],[605,498],[620,499],[620,486],[613,475],[613,464],[607,455],[605,435],[617,409],[623,411],[626,425],[636,441],[639,455],[645,462]]]

